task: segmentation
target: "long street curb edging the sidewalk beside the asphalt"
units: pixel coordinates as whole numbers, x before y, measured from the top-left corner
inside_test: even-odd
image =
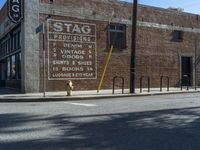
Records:
[[[145,93],[145,94],[116,94],[116,95],[94,95],[94,96],[51,96],[51,97],[3,97],[0,98],[0,103],[12,103],[12,102],[59,102],[59,101],[78,101],[78,100],[99,100],[99,99],[109,99],[109,98],[124,98],[124,97],[146,97],[146,96],[156,96],[156,95],[172,95],[172,94],[191,94],[200,93],[200,91],[180,91],[180,92],[165,92],[165,93]]]

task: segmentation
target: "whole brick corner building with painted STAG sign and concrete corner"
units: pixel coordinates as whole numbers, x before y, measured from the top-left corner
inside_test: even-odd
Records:
[[[43,42],[36,28],[45,24],[47,91],[96,90],[111,45],[113,54],[103,89],[115,76],[130,86],[132,4],[117,0],[24,0],[18,23],[0,11],[1,86],[22,92],[43,88]],[[149,76],[151,87],[169,76],[170,86],[200,85],[200,16],[174,9],[139,5],[136,42],[136,85]],[[196,43],[195,43],[196,41]],[[195,69],[196,68],[196,69]],[[187,78],[186,78],[187,76]]]

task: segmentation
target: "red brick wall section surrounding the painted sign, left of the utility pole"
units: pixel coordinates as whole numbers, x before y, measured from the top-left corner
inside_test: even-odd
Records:
[[[43,20],[45,15],[41,15],[40,19]],[[96,90],[98,87],[98,83],[100,81],[103,68],[106,62],[106,58],[109,52],[108,46],[108,37],[107,37],[107,26],[109,22],[103,21],[92,21],[92,20],[82,20],[70,17],[59,17],[52,16],[51,19],[59,19],[59,20],[70,20],[76,22],[87,22],[96,24],[96,38],[97,38],[97,79],[87,79],[87,80],[72,80],[74,84],[75,90]],[[131,28],[128,28],[127,33],[131,33]],[[130,34],[127,35],[127,38],[130,39]],[[42,43],[41,43],[42,44]],[[127,42],[128,49],[124,50],[113,50],[113,54],[111,56],[110,63],[108,65],[105,80],[102,85],[103,89],[112,88],[112,80],[115,76],[122,76],[125,78],[125,86],[129,87],[129,68],[130,68],[130,41]],[[47,48],[47,45],[46,45]],[[40,66],[41,66],[41,90],[43,83],[43,68],[42,68],[42,52],[40,54]],[[46,55],[47,58],[47,55]],[[47,64],[47,59],[46,59]],[[48,66],[46,65],[46,68]],[[46,70],[47,71],[47,70]],[[46,72],[47,74],[47,72]],[[48,91],[58,91],[65,89],[65,81],[48,81],[46,80],[47,90]]]

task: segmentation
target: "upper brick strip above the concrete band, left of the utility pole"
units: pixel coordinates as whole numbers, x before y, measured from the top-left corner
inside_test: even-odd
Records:
[[[49,0],[40,0],[41,3],[49,4]],[[124,19],[131,18],[132,5],[126,2],[117,2],[115,0],[55,0],[53,5],[60,5],[71,7],[74,10],[80,8],[86,8],[92,10],[94,14],[99,15],[112,15],[115,12],[113,17],[119,17]]]

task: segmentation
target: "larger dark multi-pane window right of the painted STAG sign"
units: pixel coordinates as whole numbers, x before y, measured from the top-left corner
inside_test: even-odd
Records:
[[[110,24],[109,25],[109,44],[114,48],[126,48],[126,25]]]

